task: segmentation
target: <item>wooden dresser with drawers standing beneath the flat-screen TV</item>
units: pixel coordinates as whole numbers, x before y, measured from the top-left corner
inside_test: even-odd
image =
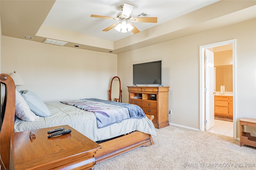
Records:
[[[146,114],[154,115],[152,120],[155,128],[169,126],[168,119],[168,92],[166,87],[138,87],[128,86],[129,103],[140,106]],[[155,100],[152,100],[152,95]],[[137,99],[134,96],[141,96]]]

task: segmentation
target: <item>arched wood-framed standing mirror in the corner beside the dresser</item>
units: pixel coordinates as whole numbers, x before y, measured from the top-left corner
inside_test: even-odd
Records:
[[[111,80],[109,100],[122,103],[121,82],[118,76],[113,77]]]

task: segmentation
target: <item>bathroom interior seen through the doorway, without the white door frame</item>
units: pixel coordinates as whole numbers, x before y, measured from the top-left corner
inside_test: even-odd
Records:
[[[233,49],[232,44],[205,49],[213,53],[214,77],[213,80],[214,125],[209,132],[233,137]],[[207,57],[209,56],[206,55]],[[208,74],[206,75],[208,76]],[[206,78],[207,80],[208,78]],[[208,99],[207,99],[208,100]]]

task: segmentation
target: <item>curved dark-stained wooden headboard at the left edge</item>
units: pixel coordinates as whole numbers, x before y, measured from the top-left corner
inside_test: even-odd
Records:
[[[9,169],[10,164],[10,140],[11,134],[14,133],[15,117],[15,85],[14,81],[8,74],[0,74],[1,92],[4,85],[5,92],[4,103],[1,108],[1,129],[0,129],[0,154],[4,166]],[[1,162],[1,169],[4,169]]]

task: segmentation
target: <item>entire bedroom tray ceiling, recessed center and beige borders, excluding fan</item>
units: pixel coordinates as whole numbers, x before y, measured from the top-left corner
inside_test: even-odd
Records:
[[[158,22],[135,22],[140,33],[134,35],[102,31],[116,21],[90,17],[116,17],[124,3],[134,5],[132,17],[143,12]],[[120,54],[255,19],[256,0],[0,0],[0,16],[3,36]]]

